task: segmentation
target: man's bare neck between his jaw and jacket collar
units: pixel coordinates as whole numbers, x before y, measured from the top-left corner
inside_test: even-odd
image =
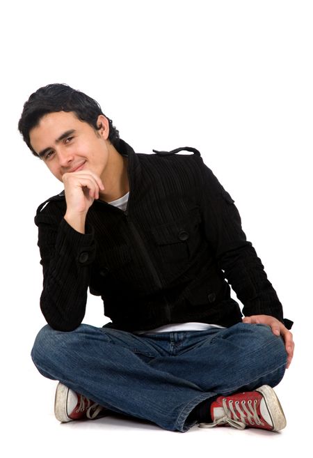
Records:
[[[100,199],[111,202],[120,199],[129,191],[128,159],[120,155],[112,144],[109,144],[108,148],[108,163],[101,177],[104,183],[104,192],[100,194]]]

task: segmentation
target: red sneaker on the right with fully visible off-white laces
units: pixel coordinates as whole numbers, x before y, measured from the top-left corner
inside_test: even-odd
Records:
[[[237,429],[251,427],[280,431],[286,426],[278,397],[267,385],[255,391],[218,397],[211,404],[211,418],[213,423],[200,423],[199,427],[229,425]]]

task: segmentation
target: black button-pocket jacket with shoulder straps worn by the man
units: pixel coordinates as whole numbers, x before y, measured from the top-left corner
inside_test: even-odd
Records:
[[[175,154],[182,149],[193,154]],[[88,287],[102,296],[110,326],[148,330],[168,323],[200,321],[232,326],[243,314],[283,321],[282,305],[230,194],[194,148],[127,155],[127,211],[95,201],[86,234],[63,219],[64,192],[37,211],[43,267],[40,306],[58,330],[77,328]],[[227,279],[227,281],[225,280]],[[287,327],[291,322],[285,321]]]

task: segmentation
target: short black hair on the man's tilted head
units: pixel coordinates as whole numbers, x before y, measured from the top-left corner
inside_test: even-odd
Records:
[[[18,124],[24,142],[29,146],[33,155],[37,157],[39,157],[38,154],[31,146],[29,132],[39,124],[42,116],[54,112],[74,112],[78,119],[90,124],[95,130],[102,127],[97,125],[98,116],[100,114],[105,116],[98,102],[83,92],[72,89],[67,84],[48,84],[40,87],[24,103]],[[109,141],[116,147],[120,134],[111,119],[108,116],[106,119],[109,121]]]

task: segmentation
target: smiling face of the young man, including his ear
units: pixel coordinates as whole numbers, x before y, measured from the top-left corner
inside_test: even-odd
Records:
[[[62,181],[63,174],[88,169],[101,177],[108,162],[109,123],[98,117],[95,130],[73,112],[45,114],[29,132],[31,146],[45,161],[52,174]]]

